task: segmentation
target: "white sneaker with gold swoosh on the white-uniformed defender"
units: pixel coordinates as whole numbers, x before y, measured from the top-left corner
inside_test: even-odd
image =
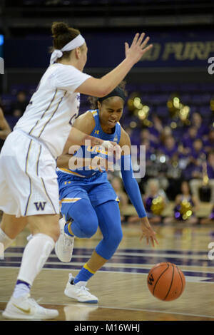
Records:
[[[39,306],[30,294],[26,294],[24,297],[11,297],[2,315],[6,319],[46,320],[56,318],[58,311]]]

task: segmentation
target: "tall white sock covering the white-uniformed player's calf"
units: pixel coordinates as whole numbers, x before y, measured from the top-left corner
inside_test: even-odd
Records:
[[[54,249],[54,245],[52,237],[46,234],[34,235],[24,249],[18,279],[32,285]]]

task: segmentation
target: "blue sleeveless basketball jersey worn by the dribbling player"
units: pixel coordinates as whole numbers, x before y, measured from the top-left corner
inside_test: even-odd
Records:
[[[121,125],[120,123],[116,123],[115,128],[113,129],[112,134],[104,133],[101,128],[100,118],[99,118],[99,110],[89,110],[93,118],[95,120],[95,127],[91,132],[91,136],[96,138],[101,138],[101,140],[111,140],[113,142],[119,143],[121,139]],[[78,158],[95,158],[96,156],[107,158],[107,152],[105,149],[101,148],[101,146],[96,145],[94,147],[82,145],[81,148],[75,154]],[[108,156],[109,158],[109,156]],[[112,158],[113,159],[113,158]],[[92,176],[99,176],[101,172],[97,170],[93,170],[91,166],[81,167],[80,169],[70,170],[60,168],[58,169],[58,176],[59,174],[65,173],[67,175],[73,175],[76,177],[83,177],[83,178],[90,178]],[[106,173],[106,172],[103,172]],[[62,176],[61,176],[62,177]]]

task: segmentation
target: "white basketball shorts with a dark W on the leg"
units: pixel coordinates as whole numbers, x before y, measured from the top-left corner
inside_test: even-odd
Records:
[[[0,210],[16,217],[59,213],[56,160],[44,143],[19,130],[1,149]]]

